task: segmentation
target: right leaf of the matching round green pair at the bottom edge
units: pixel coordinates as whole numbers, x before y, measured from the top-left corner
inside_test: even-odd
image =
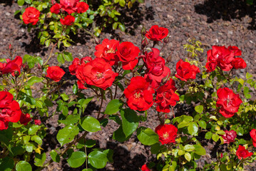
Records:
[[[93,151],[88,155],[88,162],[97,169],[102,169],[108,162],[108,157],[104,152]]]

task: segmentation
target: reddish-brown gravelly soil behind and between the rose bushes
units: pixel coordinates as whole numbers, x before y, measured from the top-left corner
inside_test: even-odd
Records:
[[[14,12],[21,9],[21,7],[16,3],[11,3],[11,0],[0,0],[0,3],[0,52],[8,51],[11,43],[17,49],[16,54],[19,56],[30,54],[41,56],[46,60],[50,49],[39,46],[36,34],[33,31],[28,33],[26,27],[21,24],[19,17],[16,16],[14,18]],[[256,3],[249,6],[242,0],[145,0],[145,4],[140,4],[127,11],[125,15],[127,33],[106,29],[101,34],[100,39],[102,41],[104,38],[116,38],[120,41],[131,41],[136,46],[139,46],[141,41],[140,30],[143,26],[147,30],[153,25],[163,26],[170,31],[170,43],[163,49],[160,56],[167,58],[171,54],[172,61],[168,66],[172,73],[175,73],[175,63],[180,58],[185,60],[187,57],[187,52],[183,49],[183,45],[188,42],[188,38],[195,38],[203,43],[205,51],[200,56],[203,62],[207,58],[206,52],[213,45],[237,46],[242,50],[242,58],[245,59],[247,68],[237,70],[236,73],[244,78],[245,73],[249,72],[256,78],[255,9]],[[93,39],[84,33],[74,38],[76,44],[66,48],[66,51],[71,52],[73,58],[84,56],[92,56],[94,58],[93,53],[96,44],[93,43]],[[54,52],[57,51],[57,49],[54,50]],[[1,55],[1,58],[4,58],[4,55]],[[51,58],[50,63],[51,65],[57,64],[56,58]],[[70,64],[66,63],[63,68],[68,71]],[[72,84],[66,86],[65,91],[71,92],[72,86]],[[97,101],[91,103],[87,109],[88,114],[91,113],[93,115],[97,108]],[[186,110],[185,106],[179,108]],[[54,110],[54,108],[51,110]],[[171,114],[169,117],[171,117]],[[49,133],[47,141],[44,142],[46,151],[50,151],[58,144],[56,133],[61,126],[57,124],[57,120],[58,116],[56,115],[44,123],[48,127]],[[149,110],[148,121],[140,125],[154,130],[159,125],[155,112]],[[113,159],[115,162],[108,163],[106,169],[103,170],[140,170],[143,164],[150,160],[155,160],[154,156],[150,154],[150,148],[141,145],[135,135],[123,143],[112,140],[111,135],[117,128],[118,125],[110,121],[106,128],[97,133],[91,133],[86,137],[98,140],[98,147],[114,150]],[[215,144],[205,143],[205,147],[207,148],[207,155],[198,161],[200,167],[202,167],[204,161],[210,162],[216,155]],[[45,170],[83,170],[83,166],[71,169],[63,161],[60,164],[54,163]],[[255,169],[250,168],[249,170]]]

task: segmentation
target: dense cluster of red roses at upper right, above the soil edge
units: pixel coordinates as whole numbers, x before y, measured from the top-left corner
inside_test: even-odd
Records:
[[[241,56],[242,51],[237,46],[213,46],[207,52],[208,58],[205,68],[208,72],[215,71],[216,67],[219,67],[222,71],[230,71],[232,68],[246,68],[246,63]]]

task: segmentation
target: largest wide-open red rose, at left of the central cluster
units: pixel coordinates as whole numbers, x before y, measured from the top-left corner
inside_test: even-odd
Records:
[[[82,63],[76,71],[76,77],[82,83],[85,81],[89,85],[97,86],[106,90],[115,81],[118,73],[112,71],[111,65],[103,58],[95,58],[89,63]]]

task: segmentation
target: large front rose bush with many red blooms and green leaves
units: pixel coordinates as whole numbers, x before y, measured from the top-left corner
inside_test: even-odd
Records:
[[[82,1],[63,0],[54,4],[51,13],[76,15],[86,10]],[[171,71],[155,48],[168,43],[168,31],[153,26],[141,36],[140,45],[103,39],[92,57],[73,59],[62,51],[50,53],[46,61],[29,55],[3,59],[0,170],[32,170],[32,166],[42,170],[52,162],[86,171],[102,169],[107,162],[116,162],[115,153],[97,147],[87,135],[106,127],[109,120],[119,125],[113,140],[125,142],[133,135],[150,147],[155,158],[140,165],[141,170],[244,170],[254,162],[256,105],[250,93],[256,81],[250,73],[245,78],[232,75],[232,70],[246,67],[237,58],[242,51],[236,46],[213,46],[205,54],[205,64],[188,50],[193,55],[180,58]],[[49,66],[53,56],[58,64]],[[66,61],[73,78],[61,69]],[[70,85],[72,92],[66,92]],[[86,108],[91,101],[99,107],[89,114]],[[147,120],[149,109],[158,118],[155,128],[140,124]],[[46,124],[54,115],[60,126],[58,145],[48,151],[43,149],[49,136]],[[211,154],[216,158],[203,159],[198,168],[207,144],[215,145]]]

